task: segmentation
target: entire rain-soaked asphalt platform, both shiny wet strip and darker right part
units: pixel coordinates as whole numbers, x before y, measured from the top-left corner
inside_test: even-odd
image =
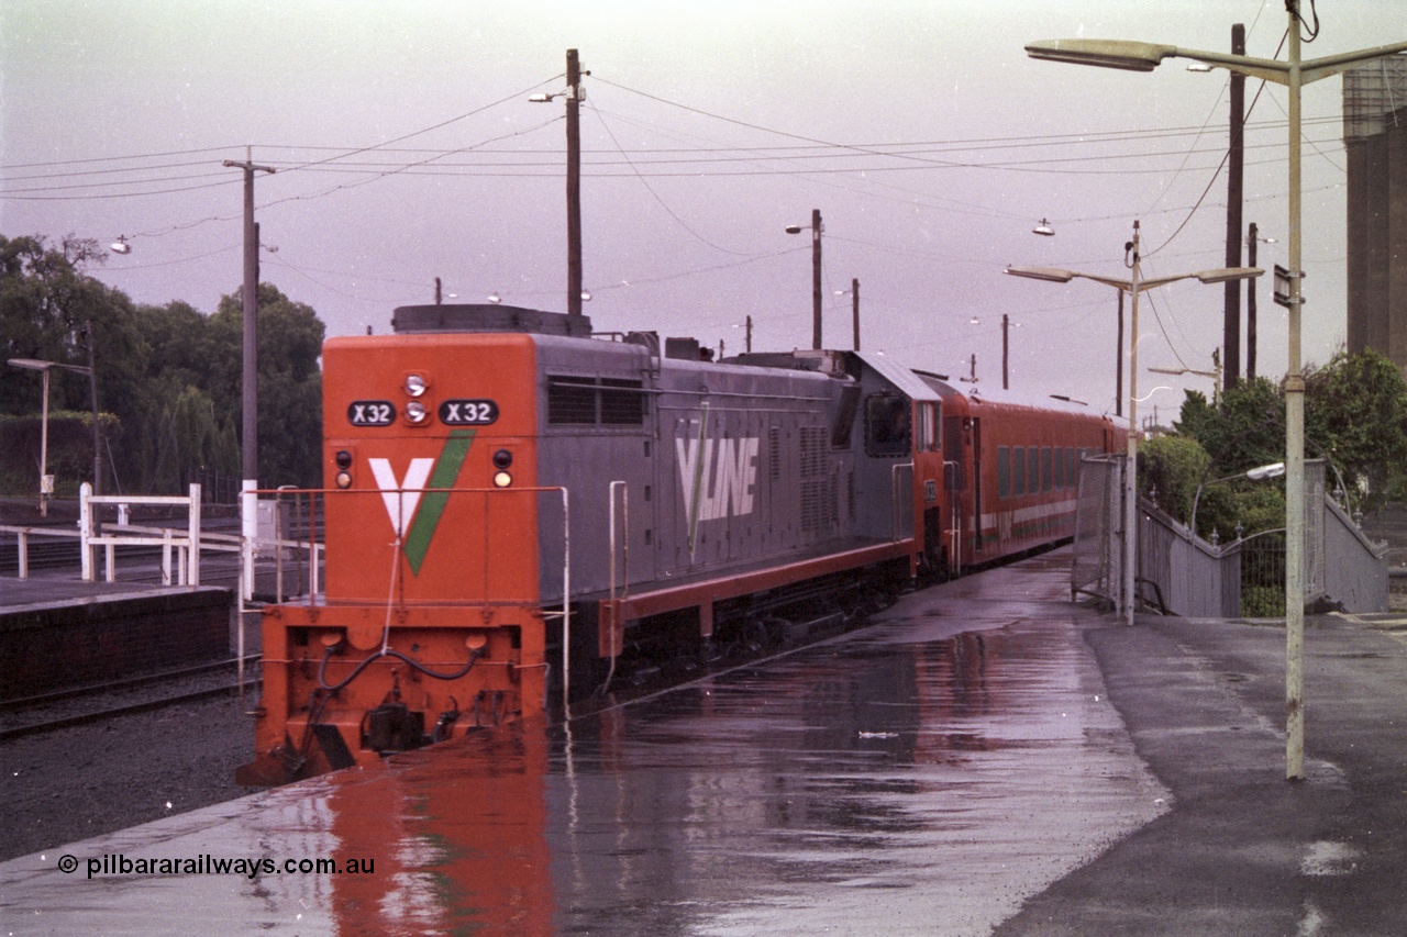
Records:
[[[7,933],[1407,933],[1407,620],[1068,599],[1054,553],[566,720],[0,862]]]

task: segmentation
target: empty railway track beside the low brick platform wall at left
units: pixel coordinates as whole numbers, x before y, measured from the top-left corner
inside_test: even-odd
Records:
[[[250,673],[257,657],[245,658],[245,688],[257,687]],[[238,660],[149,674],[108,684],[75,687],[0,703],[0,741],[151,712],[183,702],[239,692]]]

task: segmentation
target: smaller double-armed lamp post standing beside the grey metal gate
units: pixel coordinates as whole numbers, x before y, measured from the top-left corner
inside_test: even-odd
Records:
[[[1127,249],[1133,253],[1133,276],[1127,280],[1121,277],[1107,277],[1095,273],[1079,273],[1076,270],[1062,270],[1058,267],[1007,267],[1006,273],[1013,277],[1029,277],[1047,283],[1069,283],[1081,277],[1112,286],[1120,293],[1127,293],[1130,300],[1130,328],[1133,340],[1128,343],[1128,466],[1124,470],[1124,588],[1123,606],[1124,620],[1134,623],[1134,567],[1137,564],[1138,544],[1138,294],[1152,287],[1166,286],[1178,280],[1200,280],[1202,283],[1227,283],[1228,280],[1245,280],[1258,277],[1263,270],[1256,267],[1220,267],[1216,270],[1202,270],[1197,273],[1179,273],[1171,277],[1144,279],[1142,267],[1138,263],[1138,222],[1134,221],[1134,239]]]

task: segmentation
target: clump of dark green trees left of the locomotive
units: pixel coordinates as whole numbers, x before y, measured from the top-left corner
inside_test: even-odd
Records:
[[[104,260],[93,241],[69,236],[51,246],[39,235],[0,235],[0,350],[6,359],[86,367],[91,336],[106,447],[113,454],[104,487],[174,494],[191,468],[238,473],[243,356],[238,293],[224,297],[210,317],[180,301],[135,307],[127,294],[86,273]],[[260,484],[318,487],[322,322],[311,307],[269,284],[259,287],[259,317]],[[28,453],[28,436],[35,436],[35,447],[38,442],[27,421],[39,408],[39,381],[0,367],[0,416],[18,418],[3,436],[23,442],[0,452],[6,487],[28,491],[34,484],[37,459]],[[53,371],[51,408],[72,411],[69,416],[91,426],[89,381]],[[91,466],[90,439],[90,433],[83,442],[76,433],[61,435],[59,445],[73,452],[51,446],[51,466]],[[73,481],[70,468],[63,474],[61,483]]]

